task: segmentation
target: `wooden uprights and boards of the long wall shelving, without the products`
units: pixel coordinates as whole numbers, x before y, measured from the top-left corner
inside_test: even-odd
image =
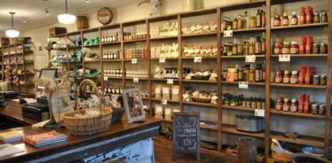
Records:
[[[313,0],[314,1],[314,0]],[[221,53],[221,43],[225,39],[223,37],[223,31],[221,30],[221,22],[222,22],[222,14],[225,12],[236,12],[236,11],[243,11],[245,9],[252,10],[257,8],[264,8],[266,12],[266,18],[267,23],[266,27],[260,27],[260,28],[253,28],[253,29],[242,29],[242,30],[233,30],[233,35],[252,35],[252,34],[261,34],[265,32],[266,34],[266,45],[267,45],[267,51],[266,55],[257,56],[257,61],[263,61],[265,62],[265,71],[266,74],[270,74],[270,72],[273,69],[273,66],[275,65],[281,65],[283,63],[278,62],[276,58],[278,58],[278,55],[273,54],[273,39],[275,35],[278,35],[279,32],[294,32],[294,29],[296,32],[302,32],[306,33],[305,35],[310,35],[310,32],[312,30],[320,30],[324,29],[322,31],[326,32],[325,35],[332,35],[332,29],[329,27],[329,24],[332,23],[331,15],[332,15],[332,3],[329,1],[327,2],[328,6],[326,6],[328,10],[328,15],[330,16],[328,18],[328,23],[320,23],[320,24],[308,24],[308,25],[298,25],[298,26],[290,26],[290,27],[271,27],[271,19],[273,18],[272,12],[275,8],[281,7],[282,5],[288,5],[292,3],[302,3],[301,5],[306,6],[308,3],[311,3],[312,1],[286,1],[286,0],[257,0],[255,2],[250,3],[244,3],[244,4],[233,4],[233,5],[227,5],[219,8],[214,9],[207,9],[207,10],[200,10],[200,11],[194,11],[194,12],[183,12],[178,14],[172,14],[162,17],[156,17],[156,18],[149,18],[149,19],[140,19],[115,25],[109,25],[104,27],[97,27],[97,28],[91,28],[86,29],[83,31],[78,31],[74,33],[64,34],[64,35],[54,35],[52,37],[58,37],[58,38],[67,38],[72,35],[80,35],[80,36],[99,36],[99,38],[102,38],[104,35],[107,35],[107,30],[116,30],[119,31],[123,38],[123,32],[127,30],[128,27],[132,26],[138,26],[143,25],[146,27],[146,34],[149,34],[149,28],[151,23],[156,23],[160,21],[173,21],[178,22],[178,35],[174,36],[165,36],[165,37],[157,37],[157,38],[151,38],[147,37],[144,39],[138,39],[138,40],[130,40],[130,41],[121,41],[114,42],[114,43],[99,43],[94,46],[90,46],[89,48],[99,51],[100,60],[91,63],[91,62],[85,62],[83,60],[83,69],[85,72],[85,67],[91,67],[94,66],[96,68],[99,68],[99,71],[102,72],[101,76],[98,76],[97,78],[93,78],[95,80],[99,80],[101,82],[101,85],[104,86],[106,83],[117,83],[122,86],[126,85],[135,85],[139,86],[140,89],[142,89],[144,92],[148,94],[148,97],[144,97],[145,103],[149,106],[149,113],[151,116],[154,114],[154,104],[160,104],[162,100],[155,99],[152,97],[153,95],[153,88],[154,84],[156,83],[162,83],[166,84],[166,79],[154,79],[152,75],[152,71],[154,68],[154,65],[160,65],[161,63],[158,63],[158,58],[138,58],[137,64],[131,64],[130,61],[132,59],[127,58],[121,58],[121,59],[114,59],[114,60],[105,60],[101,56],[103,54],[103,51],[106,49],[113,49],[113,50],[121,50],[122,55],[123,51],[126,50],[130,46],[137,47],[137,44],[139,46],[144,46],[148,51],[150,50],[153,43],[156,42],[173,42],[178,43],[178,58],[166,58],[166,65],[170,64],[171,66],[177,66],[178,70],[182,70],[183,67],[187,65],[191,66],[197,66],[201,67],[200,64],[207,64],[208,66],[213,66],[214,70],[217,71],[217,81],[216,82],[209,82],[209,81],[188,81],[184,80],[184,76],[182,74],[179,74],[178,79],[174,79],[174,84],[179,85],[179,95],[182,95],[184,88],[186,85],[195,85],[197,87],[207,87],[217,90],[217,95],[219,99],[221,98],[221,94],[225,92],[228,89],[232,89],[234,94],[246,94],[244,90],[238,89],[237,84],[238,82],[223,82],[221,79],[222,74],[222,67],[223,65],[227,65],[229,62],[233,62],[233,60],[241,60],[242,64],[244,64],[244,58],[245,56],[223,56]],[[317,2],[317,1],[315,1]],[[273,8],[274,7],[274,8]],[[299,12],[299,11],[297,11]],[[282,12],[281,12],[282,13]],[[209,18],[214,19],[217,22],[217,32],[209,32],[209,33],[203,33],[203,34],[197,34],[197,35],[184,35],[181,32],[182,26],[186,25],[186,21],[195,21],[196,18],[198,19],[201,16],[209,15]],[[189,20],[186,20],[189,19]],[[93,34],[93,35],[91,35]],[[278,35],[282,38],[281,35]],[[286,36],[286,35],[285,35]],[[297,35],[299,38],[300,35]],[[202,57],[202,63],[194,63],[194,58],[185,58],[183,57],[183,47],[186,44],[186,42],[205,42],[205,40],[212,40],[214,42],[213,44],[217,44],[217,57]],[[223,115],[224,112],[240,112],[240,113],[253,113],[253,109],[249,108],[243,108],[241,106],[226,106],[221,104],[220,101],[217,102],[217,105],[211,105],[211,104],[205,104],[205,103],[198,103],[198,102],[183,102],[182,96],[179,96],[178,101],[168,101],[168,104],[171,105],[178,105],[181,112],[186,112],[184,108],[186,106],[197,106],[201,107],[199,109],[200,113],[203,113],[205,111],[211,111],[209,109],[212,109],[213,111],[217,113],[217,127],[216,128],[206,128],[202,127],[204,129],[207,129],[211,132],[213,132],[217,138],[217,150],[221,151],[221,147],[224,140],[224,134],[231,134],[231,135],[239,135],[239,136],[253,136],[257,137],[258,139],[263,140],[263,144],[265,146],[265,157],[269,157],[269,149],[271,144],[271,139],[275,138],[277,140],[288,142],[291,144],[300,144],[300,145],[312,145],[324,148],[325,150],[325,157],[328,157],[328,151],[330,149],[330,114],[331,114],[331,72],[332,72],[332,37],[328,36],[327,39],[328,43],[328,54],[317,54],[317,55],[290,55],[292,62],[298,62],[306,59],[305,63],[310,63],[311,59],[312,62],[319,59],[319,63],[323,63],[325,65],[326,70],[323,70],[327,73],[327,85],[326,86],[314,86],[314,85],[290,85],[290,84],[277,84],[270,82],[270,75],[266,75],[266,82],[253,82],[249,83],[249,87],[255,88],[250,89],[254,91],[258,91],[263,89],[263,96],[265,97],[265,132],[262,133],[246,133],[241,132],[236,129],[235,126],[224,124]],[[83,48],[79,47],[79,48]],[[67,50],[67,49],[65,49]],[[94,64],[94,65],[93,65]],[[274,65],[273,65],[274,64]],[[313,64],[312,64],[313,65]],[[70,63],[67,63],[67,66],[70,66]],[[137,66],[144,67],[144,69],[147,71],[147,78],[139,78],[139,82],[135,83],[133,82],[133,78],[125,77],[124,71],[122,74],[122,77],[107,77],[104,75],[104,69],[107,67],[119,67],[123,70],[126,68],[137,68]],[[206,66],[206,65],[205,65]],[[289,64],[290,66],[290,64]],[[275,70],[275,69],[274,69]],[[83,74],[83,78],[87,78],[85,76],[85,73]],[[301,113],[289,113],[289,112],[277,112],[273,110],[273,108],[270,108],[270,97],[277,96],[276,95],[276,89],[281,90],[296,90],[296,91],[305,91],[309,89],[311,92],[316,90],[322,90],[320,92],[320,96],[324,97],[324,102],[327,105],[326,108],[326,115],[316,115],[316,114],[301,114]],[[302,120],[320,120],[320,122],[324,123],[325,128],[320,128],[321,130],[324,130],[324,136],[323,137],[312,137],[312,136],[301,136],[296,139],[292,138],[286,138],[282,136],[284,133],[281,131],[274,131],[271,128],[272,122],[273,122],[273,116],[282,116],[284,119],[296,119],[301,118]],[[232,117],[231,117],[232,118]],[[233,117],[232,119],[235,119]],[[276,118],[274,118],[275,120]],[[166,123],[171,123],[171,120],[164,120]],[[274,125],[274,122],[273,122]],[[286,127],[285,127],[286,128]],[[313,128],[313,127],[312,127]]]

